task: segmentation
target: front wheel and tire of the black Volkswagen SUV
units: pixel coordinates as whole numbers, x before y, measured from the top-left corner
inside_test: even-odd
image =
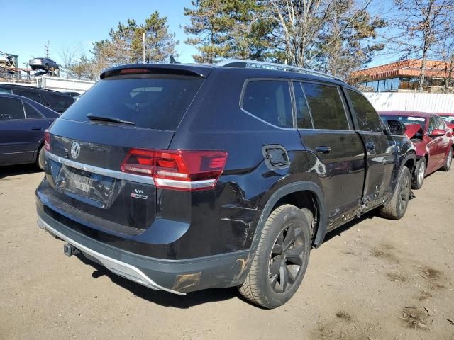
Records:
[[[404,217],[406,208],[409,205],[411,192],[411,175],[410,170],[406,166],[399,174],[396,189],[391,200],[387,205],[380,208],[380,215],[389,218],[390,220],[399,220]]]

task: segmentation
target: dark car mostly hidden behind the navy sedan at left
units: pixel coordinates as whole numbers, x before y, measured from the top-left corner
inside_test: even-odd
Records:
[[[0,84],[0,92],[27,97],[58,113],[64,112],[72,103],[74,103],[74,98],[72,98],[72,96],[62,94],[62,92],[40,89],[33,86]]]

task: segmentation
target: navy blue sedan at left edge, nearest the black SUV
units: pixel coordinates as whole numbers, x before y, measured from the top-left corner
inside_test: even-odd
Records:
[[[44,132],[58,116],[31,99],[0,93],[0,165],[36,163],[44,169]]]

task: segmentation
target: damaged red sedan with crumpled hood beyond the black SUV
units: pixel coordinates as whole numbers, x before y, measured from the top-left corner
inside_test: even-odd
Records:
[[[411,187],[423,186],[424,177],[441,169],[449,171],[453,160],[453,131],[439,115],[416,111],[381,111],[383,120],[399,120],[416,147],[417,163]]]

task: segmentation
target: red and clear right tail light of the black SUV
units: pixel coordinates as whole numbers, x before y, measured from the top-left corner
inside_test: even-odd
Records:
[[[158,188],[199,191],[214,188],[226,160],[223,151],[131,149],[121,171],[151,176]]]

